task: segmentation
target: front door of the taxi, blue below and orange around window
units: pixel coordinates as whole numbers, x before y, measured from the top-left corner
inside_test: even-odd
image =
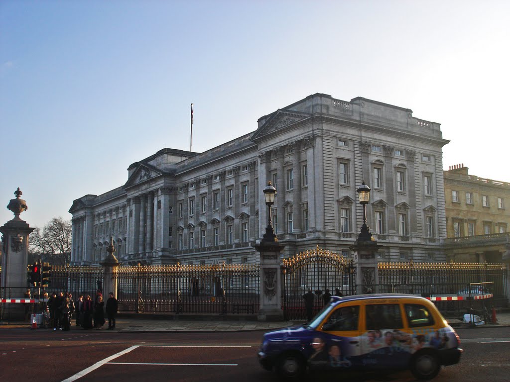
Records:
[[[312,369],[348,369],[361,366],[360,303],[338,305],[317,327]]]

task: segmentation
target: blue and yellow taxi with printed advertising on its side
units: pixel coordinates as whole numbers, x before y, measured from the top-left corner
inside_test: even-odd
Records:
[[[311,322],[264,335],[262,367],[285,379],[307,370],[402,370],[432,379],[459,362],[460,339],[428,299],[412,294],[331,297]]]

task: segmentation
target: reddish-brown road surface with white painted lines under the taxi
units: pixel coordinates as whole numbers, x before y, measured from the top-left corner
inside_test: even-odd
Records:
[[[510,328],[459,329],[461,363],[438,382],[510,379]],[[2,381],[276,381],[257,361],[263,332],[140,333],[0,329]],[[308,380],[329,381],[315,374]],[[107,378],[107,379],[105,379]],[[338,378],[335,378],[338,379]],[[344,381],[414,381],[410,372],[348,373]]]

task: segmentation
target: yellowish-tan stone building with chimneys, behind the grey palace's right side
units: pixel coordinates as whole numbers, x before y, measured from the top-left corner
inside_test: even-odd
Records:
[[[462,165],[444,171],[445,253],[465,262],[501,262],[510,224],[510,183],[469,175]]]

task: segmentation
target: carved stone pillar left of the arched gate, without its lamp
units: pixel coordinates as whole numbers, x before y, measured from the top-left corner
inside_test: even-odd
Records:
[[[254,247],[260,253],[260,308],[257,319],[283,321],[280,254],[285,245],[277,241],[261,241]]]

